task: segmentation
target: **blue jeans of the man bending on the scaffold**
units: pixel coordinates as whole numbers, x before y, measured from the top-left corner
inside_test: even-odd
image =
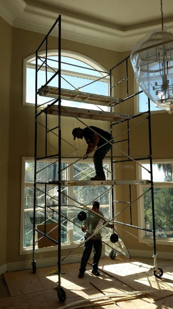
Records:
[[[114,140],[111,141],[111,144],[112,145],[114,144]],[[105,155],[108,153],[108,151],[112,148],[111,144],[107,143],[106,145],[100,147],[98,150],[97,149],[95,150],[93,160],[95,166],[95,173],[97,176],[105,178],[105,173],[103,170],[103,159]]]

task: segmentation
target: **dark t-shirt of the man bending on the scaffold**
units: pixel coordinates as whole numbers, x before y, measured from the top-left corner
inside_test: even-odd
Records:
[[[106,138],[108,141],[110,139],[112,139],[111,134],[108,133],[107,131],[104,131],[104,130],[98,128],[98,127],[94,127],[93,125],[91,125],[90,128],[95,130],[96,133],[99,133],[101,136]],[[93,143],[93,135],[94,135],[95,132],[90,130],[88,127],[83,129],[83,137],[85,138],[87,144]],[[97,144],[98,147],[106,143],[105,139],[103,139],[99,134],[98,134],[99,142]]]

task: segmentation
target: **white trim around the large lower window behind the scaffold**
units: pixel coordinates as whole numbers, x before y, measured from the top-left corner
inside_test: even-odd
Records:
[[[24,215],[25,215],[25,162],[26,161],[32,161],[34,162],[34,158],[33,157],[22,157],[22,184],[21,184],[21,220],[20,220],[20,255],[23,254],[30,254],[30,252],[32,252],[33,247],[23,247],[23,238],[24,238]],[[42,161],[52,161],[54,162],[54,159],[44,159]],[[73,163],[74,159],[63,159],[63,162],[65,163]],[[87,163],[93,163],[92,159],[87,159]],[[104,164],[109,164],[111,166],[111,160],[110,159],[104,159]],[[71,165],[68,168],[72,169],[73,165]],[[71,175],[73,175],[73,172],[71,172]],[[70,179],[73,180],[73,179]],[[27,187],[34,187],[34,183],[26,183]],[[41,186],[41,184],[40,184]],[[68,195],[72,196],[72,193],[70,192],[70,190],[73,190],[72,186],[68,187]],[[112,216],[112,201],[111,201],[111,189],[109,190],[109,200],[110,200],[110,216]],[[76,242],[76,243],[62,243],[61,246],[64,249],[73,249],[76,248],[76,246],[79,244],[80,242]],[[39,252],[48,252],[48,251],[57,251],[57,247],[58,246],[52,246],[52,247],[46,247],[46,248],[39,248]]]

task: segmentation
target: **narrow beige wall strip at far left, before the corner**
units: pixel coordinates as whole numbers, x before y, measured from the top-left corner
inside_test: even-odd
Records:
[[[0,17],[1,33],[1,112],[0,112],[0,158],[1,158],[1,224],[0,224],[0,266],[6,264],[6,228],[7,228],[7,188],[9,158],[9,109],[10,109],[10,67],[12,27]],[[2,49],[3,46],[3,49]]]

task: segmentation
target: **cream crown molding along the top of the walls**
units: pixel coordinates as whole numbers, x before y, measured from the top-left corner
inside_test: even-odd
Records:
[[[43,34],[47,34],[58,18],[58,13],[27,5],[23,0],[0,0],[0,15],[13,27]],[[164,25],[173,31],[173,22]],[[161,25],[120,31],[62,15],[61,29],[63,39],[123,52],[131,50],[148,32],[161,30]],[[52,35],[57,33],[55,28]]]

